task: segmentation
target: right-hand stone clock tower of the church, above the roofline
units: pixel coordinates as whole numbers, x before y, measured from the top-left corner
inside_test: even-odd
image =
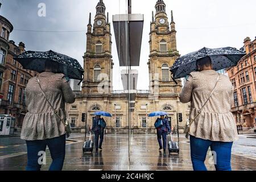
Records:
[[[170,67],[174,64],[179,52],[176,44],[176,30],[174,16],[171,11],[171,23],[168,22],[166,4],[158,0],[155,5],[155,16],[152,11],[150,28],[150,59],[148,69],[150,86],[154,94],[175,94],[181,90],[181,81],[178,85],[171,79]]]

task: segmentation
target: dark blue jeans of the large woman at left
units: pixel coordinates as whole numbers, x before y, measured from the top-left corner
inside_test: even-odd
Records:
[[[66,135],[60,137],[45,139],[45,140],[32,140],[27,143],[27,167],[26,171],[40,171],[42,163],[42,152],[46,151],[48,146],[52,157],[52,164],[49,171],[61,171],[65,159],[65,143]]]

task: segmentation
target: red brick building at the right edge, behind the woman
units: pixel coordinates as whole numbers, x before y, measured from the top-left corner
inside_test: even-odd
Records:
[[[243,43],[246,56],[226,71],[234,86],[232,113],[237,124],[250,129],[256,127],[256,38],[247,37]]]

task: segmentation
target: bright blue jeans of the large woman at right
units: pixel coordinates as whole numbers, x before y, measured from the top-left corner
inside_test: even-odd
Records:
[[[213,152],[216,171],[231,171],[232,144],[233,142],[213,142],[190,136],[191,160],[194,171],[207,171],[204,162],[209,147]]]

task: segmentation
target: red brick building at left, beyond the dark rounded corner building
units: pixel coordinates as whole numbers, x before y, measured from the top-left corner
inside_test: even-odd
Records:
[[[25,106],[25,88],[28,80],[36,76],[36,72],[23,69],[13,57],[24,52],[24,43],[20,42],[16,46],[14,41],[10,40],[9,50],[6,57],[5,83],[3,84],[3,99],[1,104],[1,113],[11,114],[16,118],[16,126],[22,126],[24,115],[27,108]]]

